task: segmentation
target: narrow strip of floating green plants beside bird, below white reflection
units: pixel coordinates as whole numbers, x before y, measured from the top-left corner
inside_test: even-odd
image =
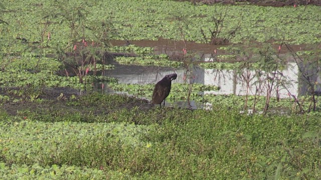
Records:
[[[151,97],[154,84],[121,84],[121,83],[110,83],[109,87],[115,91],[128,92],[129,94],[138,97]],[[187,101],[189,94],[189,84],[187,83],[173,83],[170,95],[166,98],[167,102],[175,101]],[[255,97],[254,95],[242,96],[242,95],[216,95],[216,94],[203,94],[204,91],[218,90],[219,87],[214,85],[204,85],[194,83],[192,84],[190,100],[194,100],[199,104],[211,103],[214,106],[225,107],[228,109],[234,110],[244,110],[245,103],[249,109],[255,105],[256,111],[262,111],[265,105],[265,96],[260,98]],[[307,97],[299,97],[298,101],[303,102]],[[307,103],[307,102],[306,102]],[[271,97],[269,102],[269,107],[272,111],[275,112],[299,112],[299,106],[291,98],[281,98],[277,99],[276,97]],[[309,106],[302,106],[304,111],[307,111]],[[316,110],[319,110],[321,107],[317,106]],[[246,108],[247,110],[247,108]]]

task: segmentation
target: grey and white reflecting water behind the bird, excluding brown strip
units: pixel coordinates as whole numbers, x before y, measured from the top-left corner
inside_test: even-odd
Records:
[[[208,56],[204,58],[205,61],[211,61],[212,59]],[[146,83],[156,83],[161,80],[166,74],[177,73],[178,78],[173,80],[173,83],[183,83],[185,81],[184,74],[186,69],[184,68],[171,68],[171,67],[155,67],[155,66],[138,66],[138,65],[121,65],[113,60],[109,63],[115,65],[115,69],[106,70],[105,75],[116,77],[119,83],[131,83],[131,84],[146,84]],[[246,90],[246,83],[242,78],[242,73],[236,70],[217,70],[217,69],[204,69],[200,67],[194,67],[193,78],[189,79],[190,82],[201,83],[201,84],[211,84],[220,86],[218,91],[203,91],[202,94],[236,94],[245,95],[257,93],[257,82],[260,80],[254,76],[255,71],[248,71],[246,75],[249,75],[251,82],[250,87]],[[281,74],[281,75],[280,75]],[[307,90],[307,85],[304,81],[299,81],[299,69],[296,63],[289,62],[286,69],[279,71],[277,78],[286,83],[284,86],[279,86],[272,89],[272,96],[278,96],[280,98],[289,97],[289,94],[297,96],[298,94],[305,93]],[[244,75],[244,74],[243,74]],[[300,78],[301,79],[301,78]],[[321,81],[319,77],[315,76],[315,81]],[[298,85],[298,81],[301,83]],[[260,86],[260,95],[266,94],[266,87],[264,82]],[[98,87],[99,88],[99,87]],[[101,87],[100,87],[101,88]],[[320,88],[320,86],[318,87]],[[123,93],[115,92],[105,85],[103,89],[104,93]],[[151,97],[145,97],[145,99],[150,100]],[[171,106],[189,106],[187,102],[176,102],[175,104],[168,104]],[[200,108],[200,104],[192,101],[190,103],[192,108]]]

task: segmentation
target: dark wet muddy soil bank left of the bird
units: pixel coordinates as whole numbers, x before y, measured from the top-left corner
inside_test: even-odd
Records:
[[[29,89],[21,88],[0,88],[0,95],[7,95],[10,97],[10,101],[4,102],[0,107],[0,110],[6,111],[11,115],[22,115],[24,111],[28,113],[59,113],[59,115],[70,114],[70,113],[81,113],[88,114],[107,114],[119,109],[132,109],[147,111],[154,107],[153,104],[149,104],[147,100],[137,99],[135,97],[126,97],[125,103],[118,105],[113,104],[101,104],[97,105],[69,105],[73,101],[80,99],[81,95],[92,93],[92,92],[81,92],[79,90],[70,87],[55,87],[55,88],[44,88],[40,90],[40,95],[37,98],[42,99],[41,101],[31,101],[30,95],[16,95],[13,93],[17,91],[29,91]],[[73,98],[71,99],[71,96]],[[16,100],[14,100],[16,99]],[[17,100],[19,99],[19,100]],[[88,110],[90,109],[90,110]]]

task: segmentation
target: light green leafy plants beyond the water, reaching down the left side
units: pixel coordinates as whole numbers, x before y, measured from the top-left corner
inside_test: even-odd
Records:
[[[105,64],[106,51],[129,50],[138,54],[117,57],[120,63],[186,65],[169,60],[165,54],[154,55],[152,48],[111,47],[109,40],[155,40],[161,37],[204,42],[204,36],[211,36],[210,31],[215,28],[222,12],[226,17],[217,38],[226,38],[237,28],[234,36],[229,38],[232,43],[244,39],[317,43],[320,42],[319,8],[312,5],[295,8],[209,6],[159,0],[5,1],[0,10],[0,85],[25,86],[34,82],[36,86],[87,88],[93,81],[114,81],[88,77],[96,75],[97,70],[113,68]],[[88,63],[93,65],[88,66]],[[204,66],[208,65],[222,66],[212,63]],[[72,67],[72,75],[66,66]],[[59,76],[57,72],[61,71],[67,77]]]

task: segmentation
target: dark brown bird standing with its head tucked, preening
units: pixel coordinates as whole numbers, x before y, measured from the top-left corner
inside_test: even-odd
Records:
[[[159,106],[162,107],[162,102],[164,100],[165,106],[165,99],[171,91],[172,80],[176,79],[176,77],[176,73],[167,74],[162,80],[159,80],[156,83],[151,97],[152,104],[159,104]]]

